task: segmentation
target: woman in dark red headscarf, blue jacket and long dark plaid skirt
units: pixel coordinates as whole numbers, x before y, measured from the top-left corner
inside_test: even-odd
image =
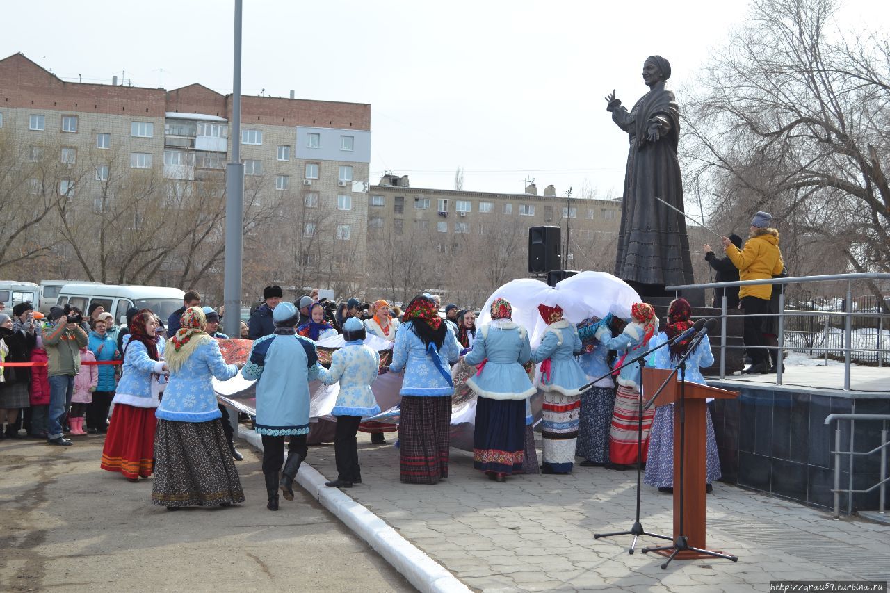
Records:
[[[405,371],[399,421],[401,481],[439,483],[448,477],[449,466],[454,384],[448,365],[457,361],[460,345],[426,296],[411,300],[401,322],[390,365],[393,372]]]

